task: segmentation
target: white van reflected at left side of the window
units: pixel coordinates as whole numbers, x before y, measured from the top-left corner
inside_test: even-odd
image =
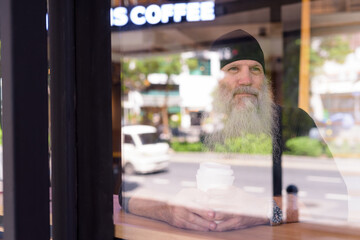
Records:
[[[167,169],[169,144],[160,142],[153,126],[122,127],[122,167],[126,174],[153,173]]]

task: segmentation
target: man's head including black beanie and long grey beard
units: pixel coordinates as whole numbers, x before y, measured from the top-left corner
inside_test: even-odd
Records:
[[[225,34],[212,45],[219,52],[222,79],[214,107],[227,117],[225,136],[245,133],[271,135],[274,103],[265,77],[260,45],[242,30]]]

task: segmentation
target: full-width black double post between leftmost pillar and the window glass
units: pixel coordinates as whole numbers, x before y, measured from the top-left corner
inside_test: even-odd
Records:
[[[49,2],[53,239],[113,239],[110,2]]]

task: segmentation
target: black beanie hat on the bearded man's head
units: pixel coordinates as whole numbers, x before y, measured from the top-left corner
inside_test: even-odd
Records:
[[[211,50],[220,53],[220,65],[237,60],[255,60],[261,64],[265,73],[264,53],[258,41],[244,30],[238,29],[216,39]]]

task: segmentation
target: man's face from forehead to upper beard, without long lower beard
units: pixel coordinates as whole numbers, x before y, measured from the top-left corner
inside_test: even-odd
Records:
[[[259,105],[259,95],[264,85],[265,74],[260,63],[254,60],[238,60],[221,69],[224,78],[219,82],[234,108],[242,109],[247,103]]]

